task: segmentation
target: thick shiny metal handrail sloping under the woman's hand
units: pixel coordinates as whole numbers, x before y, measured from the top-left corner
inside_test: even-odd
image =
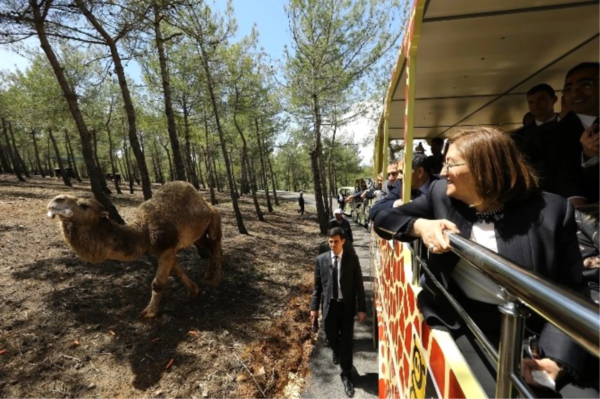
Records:
[[[590,299],[458,234],[448,233],[448,237],[452,251],[600,357],[600,309]]]

